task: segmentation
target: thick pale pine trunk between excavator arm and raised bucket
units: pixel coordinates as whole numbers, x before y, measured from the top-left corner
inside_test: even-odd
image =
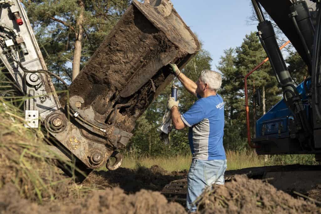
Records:
[[[79,15],[76,21],[75,28],[75,48],[74,48],[74,58],[73,58],[73,78],[72,81],[77,77],[80,72],[80,59],[81,59],[81,51],[82,51],[82,23],[84,21],[84,4],[82,0],[78,0],[77,4],[79,5]]]

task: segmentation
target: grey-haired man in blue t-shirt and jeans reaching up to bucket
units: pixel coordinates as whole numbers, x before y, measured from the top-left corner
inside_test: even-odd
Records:
[[[204,70],[195,82],[169,64],[172,72],[191,94],[199,98],[184,114],[178,111],[178,101],[169,98],[167,107],[177,130],[189,128],[189,144],[193,154],[187,177],[187,209],[196,212],[193,203],[206,186],[224,184],[226,156],[223,147],[224,102],[216,92],[220,89],[221,74]]]

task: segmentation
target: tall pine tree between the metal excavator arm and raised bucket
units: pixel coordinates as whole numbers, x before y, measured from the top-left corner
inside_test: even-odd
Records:
[[[31,0],[23,4],[48,68],[74,80],[130,0]]]

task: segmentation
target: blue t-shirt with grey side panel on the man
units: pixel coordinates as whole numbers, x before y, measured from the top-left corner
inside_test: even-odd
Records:
[[[226,159],[223,147],[224,101],[220,95],[198,99],[181,118],[190,127],[188,140],[193,159]]]

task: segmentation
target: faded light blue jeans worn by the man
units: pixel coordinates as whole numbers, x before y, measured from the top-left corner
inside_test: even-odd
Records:
[[[187,210],[196,212],[197,205],[192,204],[203,190],[212,184],[224,184],[225,160],[192,160],[187,176]]]

